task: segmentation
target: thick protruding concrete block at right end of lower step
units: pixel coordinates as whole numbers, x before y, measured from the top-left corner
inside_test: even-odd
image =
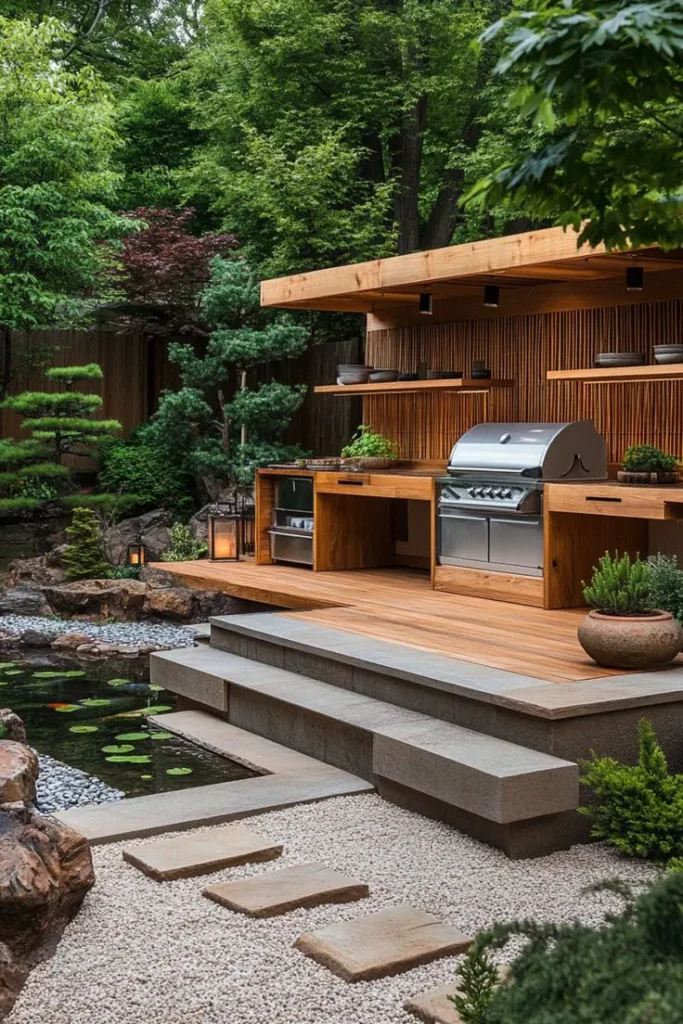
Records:
[[[499,823],[579,805],[573,762],[432,719],[378,730],[373,768],[377,775]]]

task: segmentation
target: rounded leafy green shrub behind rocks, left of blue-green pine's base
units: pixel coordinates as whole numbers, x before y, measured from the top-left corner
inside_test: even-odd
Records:
[[[104,490],[135,495],[140,508],[165,508],[175,515],[195,510],[194,480],[159,444],[110,441],[101,445],[99,459],[99,486]]]

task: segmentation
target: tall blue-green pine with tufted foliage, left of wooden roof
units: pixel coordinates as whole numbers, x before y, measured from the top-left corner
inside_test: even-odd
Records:
[[[299,355],[308,332],[261,308],[258,279],[241,258],[214,260],[203,313],[214,325],[204,355],[189,344],[169,346],[182,387],[162,398],[148,439],[215,500],[249,489],[258,466],[303,454],[282,438],[305,387],[271,380],[251,388],[249,371]]]

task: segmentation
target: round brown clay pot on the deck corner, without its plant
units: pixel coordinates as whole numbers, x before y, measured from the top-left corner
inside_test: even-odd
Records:
[[[594,609],[579,627],[579,642],[607,669],[653,669],[676,657],[683,631],[669,611],[606,615]]]

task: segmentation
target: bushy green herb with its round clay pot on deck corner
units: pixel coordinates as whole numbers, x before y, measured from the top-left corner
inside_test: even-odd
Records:
[[[592,610],[579,627],[579,641],[598,665],[609,669],[653,669],[672,662],[683,631],[670,611],[652,607],[647,563],[605,552],[584,584]]]

